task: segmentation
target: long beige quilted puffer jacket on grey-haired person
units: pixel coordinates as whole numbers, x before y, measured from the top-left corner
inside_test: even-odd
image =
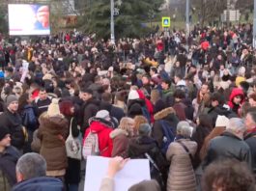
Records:
[[[189,152],[194,155],[197,149],[196,142],[180,139]],[[190,157],[183,146],[176,141],[171,143],[166,153],[167,160],[171,161],[167,179],[167,191],[195,191],[196,180]]]

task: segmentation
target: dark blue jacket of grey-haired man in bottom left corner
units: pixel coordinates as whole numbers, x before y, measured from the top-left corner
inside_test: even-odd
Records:
[[[17,183],[13,191],[62,191],[63,183],[55,177],[34,177]]]

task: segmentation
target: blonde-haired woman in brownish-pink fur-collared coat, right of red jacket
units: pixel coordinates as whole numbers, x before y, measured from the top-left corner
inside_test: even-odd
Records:
[[[135,134],[134,120],[131,118],[122,118],[119,127],[110,133],[113,140],[113,150],[111,156],[128,157],[128,142]]]

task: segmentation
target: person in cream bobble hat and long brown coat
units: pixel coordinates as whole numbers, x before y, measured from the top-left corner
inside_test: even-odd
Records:
[[[40,154],[47,164],[46,176],[64,180],[68,158],[65,140],[69,134],[68,120],[60,112],[58,99],[53,98],[48,110],[40,118],[38,137],[41,140]]]

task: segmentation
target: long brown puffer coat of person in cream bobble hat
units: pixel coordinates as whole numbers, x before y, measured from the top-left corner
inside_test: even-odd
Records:
[[[68,166],[65,140],[69,135],[69,123],[64,116],[40,118],[38,138],[41,140],[40,154],[47,163],[47,171],[58,171]]]

